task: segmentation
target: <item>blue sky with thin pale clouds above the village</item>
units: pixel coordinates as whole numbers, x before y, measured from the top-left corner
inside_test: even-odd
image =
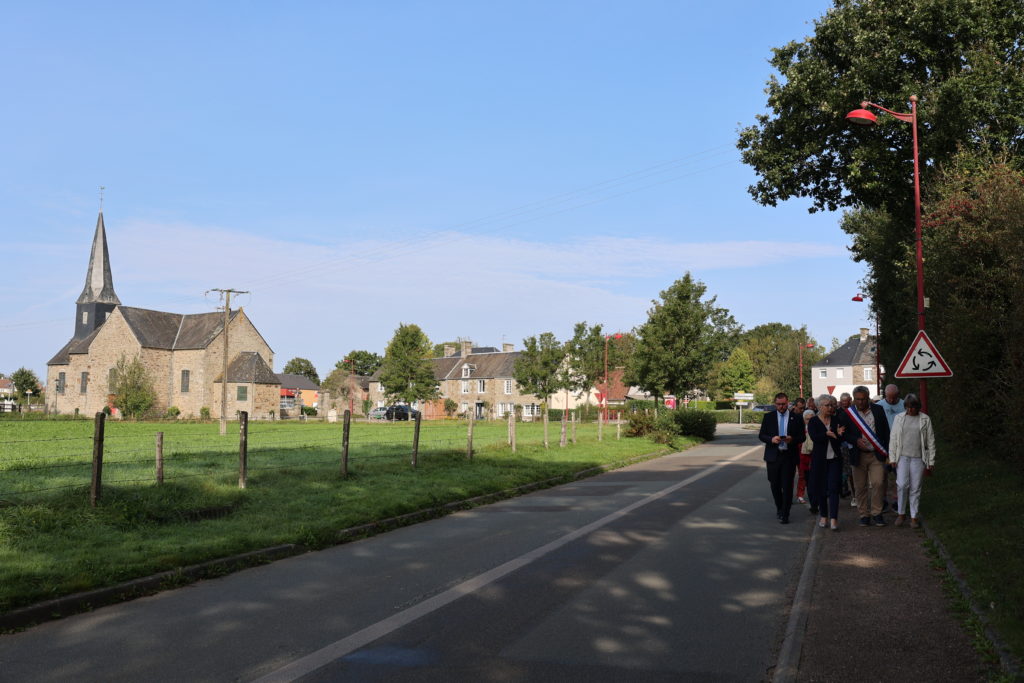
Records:
[[[770,48],[827,6],[10,5],[0,371],[42,375],[73,333],[99,185],[121,301],[251,290],[278,371],[399,323],[517,348],[628,330],[686,270],[744,327],[827,346],[867,321],[839,215],[758,206],[735,150]]]

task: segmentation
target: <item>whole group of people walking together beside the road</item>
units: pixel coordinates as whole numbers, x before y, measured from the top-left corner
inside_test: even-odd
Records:
[[[931,419],[921,412],[921,400],[910,393],[899,397],[894,384],[871,402],[867,387],[839,399],[822,394],[798,398],[793,408],[784,392],[775,395],[775,411],[766,413],[759,438],[778,521],[790,523],[794,480],[801,470],[803,499],[818,526],[839,530],[839,502],[844,476],[853,490],[861,526],[885,526],[883,513],[896,511],[896,525],[921,525],[919,509],[926,473],[935,467],[935,433]],[[805,467],[801,467],[803,457]],[[888,474],[896,472],[897,500],[886,500]],[[803,502],[803,500],[801,500]]]

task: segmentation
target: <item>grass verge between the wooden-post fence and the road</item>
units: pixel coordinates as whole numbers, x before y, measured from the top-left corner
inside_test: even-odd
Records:
[[[225,469],[159,486],[105,486],[96,508],[84,485],[13,498],[0,507],[0,612],[255,549],[323,548],[345,528],[673,450],[647,439],[598,442],[592,427],[563,449],[526,444],[512,454],[501,439],[481,440],[472,461],[464,444],[435,449],[415,470],[408,455],[388,454],[353,460],[345,479],[336,454],[310,447],[304,461],[251,471],[245,490]]]

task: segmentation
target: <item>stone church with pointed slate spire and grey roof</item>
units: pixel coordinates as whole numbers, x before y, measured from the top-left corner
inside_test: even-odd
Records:
[[[118,359],[138,357],[156,390],[154,411],[177,408],[181,418],[208,409],[220,417],[224,314],[167,313],[121,304],[114,292],[103,212],[96,219],[85,289],[76,302],[75,336],[47,364],[47,407],[91,416],[113,407]],[[241,308],[227,325],[227,417],[248,411],[266,419],[278,411],[281,383],[273,351]]]

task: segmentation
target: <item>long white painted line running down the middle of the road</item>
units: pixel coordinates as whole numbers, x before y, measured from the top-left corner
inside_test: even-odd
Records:
[[[332,661],[335,661],[336,659],[345,656],[346,654],[354,652],[360,647],[369,645],[370,643],[374,642],[379,638],[383,638],[389,633],[397,631],[402,627],[409,626],[410,624],[412,624],[413,622],[422,616],[426,616],[427,614],[436,611],[437,609],[440,609],[441,607],[451,604],[452,602],[455,602],[464,595],[469,595],[471,593],[474,593],[483,588],[484,586],[493,584],[499,579],[502,579],[503,577],[512,573],[516,569],[520,569],[529,564],[530,562],[534,562],[535,560],[538,560],[544,557],[545,555],[552,553],[555,550],[558,550],[562,546],[571,543],[577,539],[583,538],[588,533],[596,531],[602,526],[610,524],[616,519],[620,519],[625,515],[628,515],[629,513],[633,512],[638,508],[642,508],[645,505],[649,505],[650,503],[653,503],[658,499],[665,498],[666,496],[679,490],[683,486],[688,486],[694,481],[702,479],[709,474],[712,474],[713,472],[717,472],[718,470],[722,469],[723,467],[725,467],[730,463],[740,460],[741,458],[745,458],[746,456],[751,455],[756,451],[761,451],[763,447],[764,447],[763,445],[756,445],[752,449],[748,449],[746,451],[743,451],[738,455],[732,456],[731,458],[727,458],[723,462],[720,462],[717,465],[713,465],[708,469],[702,470],[697,474],[694,474],[691,477],[687,477],[686,479],[683,479],[682,481],[674,483],[671,486],[663,488],[659,492],[649,494],[646,497],[640,499],[639,501],[631,503],[630,505],[627,505],[625,508],[620,508],[618,510],[615,510],[614,512],[607,514],[604,517],[601,517],[600,519],[593,521],[585,526],[581,526],[574,531],[570,531],[565,536],[552,541],[551,543],[543,545],[540,548],[535,548],[528,553],[524,553],[519,557],[513,558],[508,562],[505,562],[504,564],[498,565],[494,569],[488,569],[483,573],[479,573],[473,577],[472,579],[464,581],[463,583],[453,588],[450,588],[443,593],[438,593],[437,595],[431,598],[427,598],[426,600],[424,600],[419,604],[413,605],[408,609],[403,609],[400,612],[388,616],[387,618],[381,620],[376,624],[372,624],[365,629],[356,631],[350,636],[346,636],[341,640],[337,640],[331,643],[330,645],[322,647],[321,649],[310,652],[309,654],[303,657],[295,659],[291,664],[288,664],[285,667],[282,667],[281,669],[271,672],[266,676],[263,676],[262,678],[257,679],[255,683],[284,683],[286,681],[294,681],[296,679],[301,678],[302,676],[305,676],[306,674],[310,674],[316,671],[317,669],[326,667]]]

